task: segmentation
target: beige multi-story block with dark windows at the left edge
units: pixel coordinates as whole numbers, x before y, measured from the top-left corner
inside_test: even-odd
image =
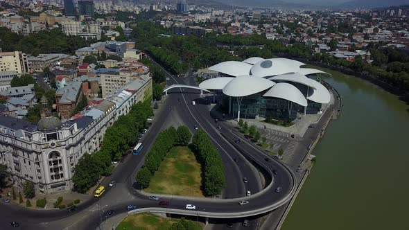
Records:
[[[19,74],[28,71],[27,55],[21,51],[1,52],[0,71],[16,71]]]

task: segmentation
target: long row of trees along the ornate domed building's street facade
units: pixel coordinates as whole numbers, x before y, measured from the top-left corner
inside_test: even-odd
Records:
[[[133,105],[129,114],[119,116],[118,120],[107,128],[101,150],[94,154],[85,153],[76,165],[73,175],[76,191],[85,193],[96,185],[102,175],[110,174],[112,160],[121,157],[137,142],[149,116],[153,116],[153,110],[150,100],[147,100]]]

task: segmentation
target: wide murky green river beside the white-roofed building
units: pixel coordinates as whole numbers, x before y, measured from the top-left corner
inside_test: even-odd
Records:
[[[409,229],[409,106],[331,73],[323,79],[342,96],[342,114],[313,151],[317,163],[281,229]]]

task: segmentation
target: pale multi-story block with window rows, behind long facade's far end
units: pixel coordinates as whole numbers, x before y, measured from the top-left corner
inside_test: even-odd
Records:
[[[133,80],[149,78],[149,69],[144,66],[137,69],[121,69],[101,73],[99,77],[101,78],[102,95],[107,97]]]

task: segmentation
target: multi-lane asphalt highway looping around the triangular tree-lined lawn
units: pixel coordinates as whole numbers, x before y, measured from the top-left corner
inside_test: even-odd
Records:
[[[175,83],[179,80],[172,76],[169,77]],[[193,79],[186,78],[186,80]],[[125,206],[128,204],[137,205],[139,211],[192,215],[198,218],[241,218],[266,213],[290,200],[296,187],[293,172],[284,164],[245,141],[234,143],[234,140],[239,139],[240,136],[231,132],[223,122],[216,124],[214,118],[210,116],[208,105],[191,105],[191,100],[199,97],[197,90],[173,89],[173,91],[174,93],[169,94],[162,105],[162,112],[155,116],[153,125],[143,136],[142,141],[146,148],[137,156],[129,156],[120,167],[114,170],[112,177],[103,182],[108,189],[101,199],[89,200],[81,204],[73,213],[36,211],[1,204],[1,229],[10,227],[8,224],[10,221],[20,222],[21,229],[95,229],[103,219],[101,209],[113,209],[116,213],[124,213],[126,212]],[[159,206],[158,202],[148,200],[146,195],[139,193],[134,187],[134,175],[143,165],[143,157],[153,144],[155,136],[165,128],[164,121],[171,112],[177,112],[183,123],[189,126],[192,132],[195,131],[194,125],[198,125],[209,134],[225,163],[227,188],[223,197],[227,199],[196,199],[161,195],[162,200],[170,202],[164,208]],[[221,130],[217,128],[218,125]],[[261,190],[261,176],[254,166],[259,168],[266,177],[263,180],[265,181],[263,190]],[[243,183],[243,177],[247,177],[249,182]],[[116,180],[117,184],[110,188],[107,183],[112,179]],[[275,190],[279,186],[282,187],[282,190],[276,193]],[[245,197],[247,190],[252,192],[250,197]],[[240,200],[247,200],[249,204],[240,206],[238,204]],[[194,204],[196,210],[187,211],[186,204]]]

